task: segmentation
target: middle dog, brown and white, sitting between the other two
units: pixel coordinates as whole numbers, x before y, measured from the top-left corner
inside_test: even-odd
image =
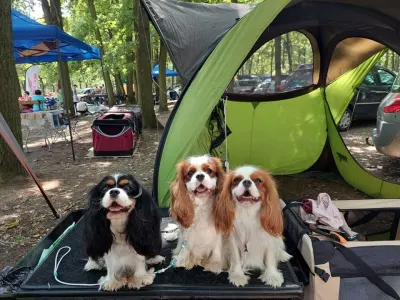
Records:
[[[176,267],[220,273],[223,268],[223,233],[215,220],[223,223],[225,215],[215,215],[215,198],[221,191],[225,173],[215,157],[194,156],[177,166],[171,185],[171,216],[180,226],[176,249]]]

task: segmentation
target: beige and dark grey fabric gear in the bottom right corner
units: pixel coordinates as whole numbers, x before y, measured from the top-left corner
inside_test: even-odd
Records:
[[[311,272],[305,299],[392,299],[387,295],[400,299],[400,241],[332,242],[322,230],[304,225],[299,202],[282,201],[281,206],[285,236],[301,252]]]

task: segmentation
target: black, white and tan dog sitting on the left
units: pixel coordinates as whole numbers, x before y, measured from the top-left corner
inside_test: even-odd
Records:
[[[132,175],[104,177],[89,193],[85,220],[89,260],[84,269],[107,268],[100,289],[153,283],[154,270],[147,264],[164,260],[159,255],[161,218],[150,193]]]

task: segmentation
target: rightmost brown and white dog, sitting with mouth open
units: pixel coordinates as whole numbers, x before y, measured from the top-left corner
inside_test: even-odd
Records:
[[[253,166],[230,172],[215,209],[218,215],[234,216],[231,222],[216,219],[217,229],[229,236],[229,281],[244,286],[246,273],[259,269],[259,279],[280,287],[284,280],[278,263],[291,256],[285,251],[280,200],[271,175]]]

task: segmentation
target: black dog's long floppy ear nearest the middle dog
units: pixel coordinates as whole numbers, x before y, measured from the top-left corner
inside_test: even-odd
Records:
[[[139,186],[140,184],[137,183]],[[127,242],[143,256],[155,256],[161,252],[161,217],[151,194],[141,186],[142,194],[129,214],[126,225]]]

